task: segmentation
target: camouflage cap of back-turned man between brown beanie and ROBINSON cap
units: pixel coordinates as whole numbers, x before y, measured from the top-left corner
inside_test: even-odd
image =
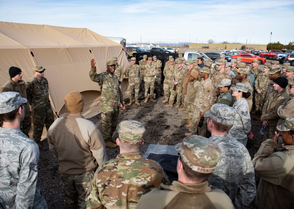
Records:
[[[118,138],[127,144],[140,144],[146,129],[139,121],[126,120],[118,126]]]

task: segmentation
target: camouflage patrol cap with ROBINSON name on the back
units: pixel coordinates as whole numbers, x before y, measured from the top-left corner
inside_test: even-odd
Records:
[[[221,156],[220,148],[215,142],[198,135],[185,137],[175,148],[182,162],[200,173],[212,173]]]

